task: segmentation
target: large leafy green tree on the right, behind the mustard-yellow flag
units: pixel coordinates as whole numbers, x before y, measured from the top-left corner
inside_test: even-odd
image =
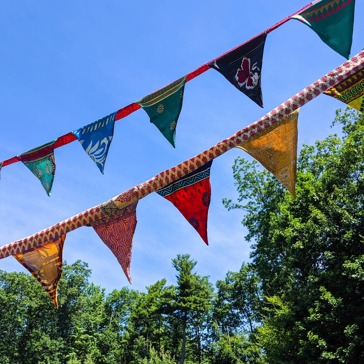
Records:
[[[233,167],[265,309],[257,329],[268,363],[363,362],[364,116],[348,108],[343,136],[305,145],[296,200],[257,163]]]

